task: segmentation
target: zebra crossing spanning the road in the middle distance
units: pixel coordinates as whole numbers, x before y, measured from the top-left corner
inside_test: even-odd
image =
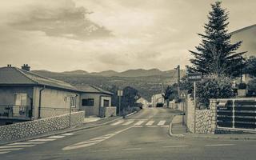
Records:
[[[120,120],[118,122],[114,122],[112,124],[110,124],[111,126],[118,126],[118,125],[122,125],[122,126],[127,126],[127,125],[134,125],[135,127],[140,127],[140,126],[162,126],[162,127],[167,127],[169,126],[169,123],[166,120],[160,120],[160,121],[155,121],[155,120]]]

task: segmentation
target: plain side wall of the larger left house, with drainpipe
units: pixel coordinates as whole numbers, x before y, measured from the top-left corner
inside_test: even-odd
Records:
[[[34,87],[34,114],[38,118],[39,92],[42,87]],[[70,97],[76,96],[76,105],[71,108],[78,110],[80,94],[78,92],[45,88],[41,95],[41,118],[48,118],[70,112]],[[66,101],[64,101],[66,99]]]

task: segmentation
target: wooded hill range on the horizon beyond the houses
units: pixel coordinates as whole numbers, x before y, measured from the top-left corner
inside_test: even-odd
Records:
[[[47,70],[32,70],[32,72],[69,82],[74,86],[90,84],[102,87],[105,90],[108,90],[110,86],[118,86],[121,88],[132,86],[148,101],[150,101],[153,94],[161,93],[162,84],[166,87],[177,82],[177,72],[175,70],[161,71],[158,69],[138,69],[126,70],[121,73],[115,72],[114,70],[106,70],[88,74],[66,74],[66,72],[57,73]],[[185,70],[181,70],[181,76],[184,75]]]

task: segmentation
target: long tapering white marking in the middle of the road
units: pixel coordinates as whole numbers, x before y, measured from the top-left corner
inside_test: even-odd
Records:
[[[83,148],[83,147],[86,147],[86,146],[93,146],[95,144],[98,144],[99,142],[105,141],[106,139],[113,137],[116,134],[119,134],[119,133],[121,133],[125,130],[129,130],[132,127],[133,126],[127,127],[126,129],[123,129],[123,130],[118,130],[118,131],[114,132],[113,134],[106,134],[104,136],[99,137],[96,140],[95,140],[95,138],[93,138],[93,139],[90,139],[90,140],[87,140],[87,141],[84,141],[84,142],[78,142],[78,143],[75,143],[73,145],[66,146],[66,147],[62,148],[62,150],[74,150],[74,149]]]

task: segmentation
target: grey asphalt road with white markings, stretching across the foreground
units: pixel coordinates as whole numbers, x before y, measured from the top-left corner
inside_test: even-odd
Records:
[[[106,126],[0,146],[0,159],[255,159],[256,141],[171,138],[173,113],[145,109]]]

